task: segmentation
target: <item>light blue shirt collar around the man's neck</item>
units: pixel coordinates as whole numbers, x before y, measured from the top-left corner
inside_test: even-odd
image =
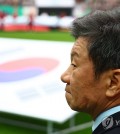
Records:
[[[110,116],[110,115],[112,115],[112,114],[114,114],[114,113],[116,113],[116,112],[118,112],[118,111],[120,111],[120,106],[116,106],[116,107],[114,107],[114,108],[111,108],[111,109],[109,109],[109,110],[107,110],[107,111],[101,113],[101,114],[95,119],[95,121],[93,122],[92,131],[94,131],[94,130],[98,127],[98,125],[99,125],[105,118],[107,118],[108,116]]]

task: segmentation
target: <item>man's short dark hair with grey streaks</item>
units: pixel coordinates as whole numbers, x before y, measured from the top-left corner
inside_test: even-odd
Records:
[[[81,36],[90,39],[88,53],[96,76],[120,68],[120,8],[76,18],[70,30],[75,39]]]

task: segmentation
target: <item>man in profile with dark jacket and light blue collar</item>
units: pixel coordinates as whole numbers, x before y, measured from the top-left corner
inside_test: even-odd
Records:
[[[62,74],[71,109],[92,116],[93,134],[120,133],[120,13],[95,11],[74,20],[71,64]]]

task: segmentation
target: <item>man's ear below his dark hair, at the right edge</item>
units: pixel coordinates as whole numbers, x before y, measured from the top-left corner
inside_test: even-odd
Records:
[[[106,91],[107,97],[114,97],[120,93],[120,69],[112,70]]]

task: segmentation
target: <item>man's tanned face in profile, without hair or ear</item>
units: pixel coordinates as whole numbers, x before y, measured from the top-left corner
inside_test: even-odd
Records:
[[[103,77],[95,79],[92,60],[88,56],[88,40],[80,37],[71,51],[71,64],[62,74],[66,83],[66,100],[76,111],[94,114],[100,105],[105,104],[105,83]]]

